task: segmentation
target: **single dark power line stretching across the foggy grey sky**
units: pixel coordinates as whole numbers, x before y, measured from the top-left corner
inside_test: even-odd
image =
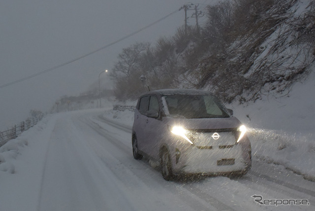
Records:
[[[107,45],[105,45],[105,46],[103,46],[103,47],[101,47],[101,48],[99,48],[99,49],[96,49],[95,51],[92,51],[92,52],[90,52],[90,53],[86,53],[86,54],[84,54],[84,55],[82,55],[82,56],[80,56],[80,57],[77,57],[77,58],[72,59],[72,60],[70,60],[70,61],[64,62],[64,63],[62,63],[62,64],[60,64],[60,65],[57,65],[57,66],[55,66],[55,67],[52,67],[52,68],[50,68],[50,69],[47,69],[47,70],[38,72],[38,73],[33,74],[33,75],[31,75],[31,76],[28,76],[28,77],[25,77],[25,78],[22,78],[22,79],[18,79],[18,80],[14,80],[14,81],[12,81],[12,82],[9,82],[9,83],[0,85],[0,89],[3,88],[3,87],[6,87],[6,86],[10,86],[10,85],[12,85],[12,84],[21,82],[21,81],[23,81],[23,80],[31,79],[31,78],[33,78],[33,77],[36,77],[36,76],[38,76],[38,75],[47,73],[47,72],[49,72],[49,71],[56,70],[56,69],[58,69],[58,68],[60,68],[60,67],[63,67],[63,66],[65,66],[65,65],[67,65],[67,64],[70,64],[70,63],[72,63],[72,62],[75,62],[75,61],[77,61],[77,60],[79,60],[79,59],[81,59],[81,58],[87,57],[87,56],[89,56],[89,55],[91,55],[91,54],[93,54],[93,53],[96,53],[96,52],[99,52],[99,51],[101,51],[101,50],[103,50],[103,49],[106,49],[106,48],[108,48],[108,47],[110,47],[110,46],[112,46],[112,45],[114,45],[114,44],[116,44],[116,43],[118,43],[118,42],[121,42],[121,41],[127,39],[128,37],[131,37],[132,35],[135,35],[135,34],[141,32],[141,31],[143,31],[143,30],[149,28],[150,26],[153,26],[153,25],[157,24],[157,23],[160,22],[160,21],[163,21],[164,19],[168,18],[169,16],[175,14],[175,13],[178,12],[178,11],[179,11],[179,10],[177,9],[177,10],[175,10],[174,12],[172,12],[172,13],[170,13],[170,14],[164,16],[163,18],[158,19],[157,21],[153,22],[152,24],[149,24],[149,25],[147,25],[147,26],[144,26],[144,27],[142,27],[142,28],[140,28],[140,29],[138,29],[138,30],[132,32],[131,34],[126,35],[125,37],[122,37],[122,38],[120,38],[120,39],[118,39],[118,40],[116,40],[116,41],[114,41],[114,42],[112,42],[112,43],[110,43],[110,44],[107,44]]]

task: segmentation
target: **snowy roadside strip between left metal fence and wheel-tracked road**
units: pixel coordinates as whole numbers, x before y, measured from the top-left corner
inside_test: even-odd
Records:
[[[1,210],[36,208],[34,195],[39,196],[43,158],[57,118],[58,115],[44,117],[33,128],[0,147]]]

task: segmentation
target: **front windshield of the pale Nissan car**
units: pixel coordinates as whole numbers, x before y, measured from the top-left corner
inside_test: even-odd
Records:
[[[173,118],[228,118],[226,108],[212,95],[165,95],[162,97],[167,116]]]

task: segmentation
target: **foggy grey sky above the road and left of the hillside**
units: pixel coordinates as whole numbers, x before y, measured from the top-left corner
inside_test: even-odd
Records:
[[[217,0],[200,0],[204,8]],[[112,43],[187,3],[187,0],[1,0],[0,85],[50,69]],[[189,11],[189,15],[192,12]],[[112,69],[123,48],[155,44],[184,24],[181,10],[107,49],[59,69],[0,89],[0,131],[49,111],[63,95],[79,95],[101,71]],[[202,19],[206,19],[204,16]],[[200,22],[202,22],[202,19]],[[189,19],[194,25],[194,19]],[[103,86],[111,86],[104,82]],[[108,87],[111,88],[111,87]]]

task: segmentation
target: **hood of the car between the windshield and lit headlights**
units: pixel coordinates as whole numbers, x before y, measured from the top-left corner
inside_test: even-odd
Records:
[[[166,123],[170,126],[178,125],[185,129],[201,130],[238,128],[242,124],[236,117],[202,119],[176,119],[166,117]]]

